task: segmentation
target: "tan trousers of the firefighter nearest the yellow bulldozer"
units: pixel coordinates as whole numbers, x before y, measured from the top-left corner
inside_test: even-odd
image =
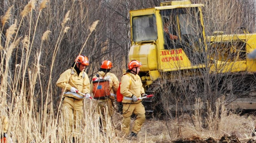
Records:
[[[126,135],[128,135],[130,131],[130,120],[132,113],[137,115],[132,127],[132,132],[138,133],[145,121],[145,108],[141,102],[137,104],[123,103],[124,119],[122,121],[122,132]]]

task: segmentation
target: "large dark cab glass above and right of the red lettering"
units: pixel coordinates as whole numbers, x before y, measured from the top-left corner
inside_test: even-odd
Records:
[[[192,64],[202,63],[203,27],[197,7],[161,10],[164,48],[182,48]]]

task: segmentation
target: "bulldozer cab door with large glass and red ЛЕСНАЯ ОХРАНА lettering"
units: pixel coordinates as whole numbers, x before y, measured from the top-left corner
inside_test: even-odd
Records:
[[[199,8],[165,9],[160,14],[164,35],[164,49],[160,52],[163,70],[204,64],[205,40]]]

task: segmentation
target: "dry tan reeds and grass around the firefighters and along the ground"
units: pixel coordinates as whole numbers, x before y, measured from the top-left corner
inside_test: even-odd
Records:
[[[97,24],[100,23],[97,19],[93,19],[90,23],[86,23],[86,26],[80,25],[81,27],[87,28],[84,30],[87,31],[87,33],[81,34],[86,36],[83,38],[75,36],[72,37],[73,39],[70,38],[71,40],[82,39],[82,41],[76,45],[78,47],[77,51],[74,50],[75,48],[61,49],[65,42],[68,41],[69,36],[74,34],[73,32],[78,29],[74,26],[78,21],[76,21],[77,23],[74,22],[70,24],[69,18],[81,15],[84,19],[79,19],[79,21],[83,22],[85,18],[88,17],[88,13],[82,13],[82,11],[86,11],[82,8],[81,13],[73,12],[72,10],[75,9],[74,6],[80,3],[71,3],[70,6],[72,10],[67,11],[67,9],[64,9],[63,11],[67,11],[66,15],[57,15],[56,17],[60,17],[61,20],[56,20],[56,23],[49,24],[51,25],[49,27],[52,28],[49,29],[52,31],[51,32],[48,30],[48,27],[42,28],[44,18],[49,18],[47,22],[54,21],[56,18],[55,15],[47,15],[47,12],[50,13],[50,11],[44,12],[50,1],[43,0],[38,7],[39,12],[36,11],[37,5],[35,2],[36,1],[31,0],[24,7],[22,12],[20,12],[21,17],[17,17],[17,20],[12,20],[13,22],[11,26],[7,28],[5,34],[1,32],[2,35],[6,35],[6,39],[0,39],[0,115],[9,116],[10,120],[7,134],[11,135],[12,132],[12,139],[14,141],[61,142],[65,134],[63,130],[64,120],[59,110],[61,108],[61,97],[63,94],[58,94],[59,92],[54,86],[56,77],[59,74],[59,70],[65,70],[63,67],[67,65],[68,61],[73,61],[74,58],[70,55],[73,54],[75,57],[74,52],[88,52],[87,41],[89,41],[91,45],[93,42],[97,42],[97,38],[99,37],[92,33],[96,31],[97,28],[100,28],[96,27]],[[46,5],[46,3],[48,4]],[[81,7],[83,7],[82,4]],[[7,10],[6,15],[2,18],[2,25],[5,25],[7,20],[12,16],[11,9],[12,7]],[[28,16],[29,14],[30,16]],[[44,15],[44,17],[42,15]],[[70,17],[69,15],[72,16]],[[1,28],[1,31],[4,31],[4,27]],[[127,27],[124,28],[127,29]],[[42,32],[44,32],[44,34],[42,34]],[[50,33],[52,37],[49,35]],[[91,38],[90,35],[94,36],[93,40],[89,39]],[[114,36],[118,37],[120,35]],[[107,37],[111,37],[111,34],[107,35]],[[129,36],[127,37],[126,42],[129,43]],[[55,41],[52,40],[53,38],[56,38]],[[19,41],[21,41],[22,44],[20,44]],[[122,71],[120,69],[126,66],[123,64],[124,62],[120,63],[119,61],[127,60],[128,48],[126,52],[118,56],[112,55],[111,51],[108,50],[117,49],[116,47],[112,48],[111,46],[113,45],[110,45],[114,42],[105,39],[102,41],[107,41],[104,52],[109,52],[109,54],[101,55],[101,57],[120,58],[121,60],[114,62],[116,68],[112,71],[121,76]],[[117,40],[116,43],[119,44],[118,47],[123,47],[122,44],[125,42],[118,42]],[[97,47],[97,44],[94,46]],[[129,44],[125,44],[125,46],[129,47]],[[101,49],[101,46],[99,47],[99,49]],[[67,55],[62,53],[65,50],[66,54],[68,53]],[[96,48],[93,50],[96,50]],[[121,49],[120,51],[124,50]],[[91,51],[90,53],[94,54],[95,51]],[[59,59],[56,60],[57,58]],[[44,62],[42,62],[43,59]],[[62,61],[62,63],[59,64],[59,61]],[[94,62],[94,64],[96,63],[97,62]],[[90,68],[90,71],[97,70],[97,67]],[[55,72],[56,75],[53,76]],[[56,101],[56,97],[58,97],[59,100]],[[201,102],[199,101],[198,103]],[[193,135],[219,138],[224,133],[231,134],[233,132],[240,137],[250,137],[250,131],[253,129],[252,126],[255,125],[254,116],[239,116],[233,113],[227,115],[227,111],[217,105],[216,108],[219,109],[218,111],[220,113],[216,114],[216,111],[211,111],[210,108],[208,110],[209,113],[207,114],[207,119],[205,119],[209,125],[207,128],[201,127],[203,119],[201,117],[202,111],[200,105],[200,107],[197,106],[197,108],[195,108],[194,116],[192,117],[195,121],[195,126],[191,122],[189,115],[186,114],[183,114],[182,118],[170,118],[165,121],[147,120],[139,133],[137,141],[130,141],[122,137],[119,128],[108,128],[106,134],[99,133],[98,115],[95,114],[95,103],[91,100],[84,100],[84,115],[81,127],[78,127],[80,129],[78,131],[80,136],[78,142],[155,142],[169,141],[177,137]],[[116,113],[113,118],[115,126],[120,125],[121,120],[121,115]],[[107,120],[107,123],[110,127],[112,121]],[[2,134],[2,124],[0,124],[0,129]],[[70,138],[67,139],[70,140]]]

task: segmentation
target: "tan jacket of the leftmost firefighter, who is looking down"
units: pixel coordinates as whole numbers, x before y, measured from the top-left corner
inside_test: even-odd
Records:
[[[79,75],[75,69],[71,68],[62,73],[56,83],[62,89],[65,89],[64,96],[73,97],[82,100],[84,96],[78,93],[70,92],[70,88],[74,87],[84,94],[90,93],[90,81],[87,74],[81,71]]]

